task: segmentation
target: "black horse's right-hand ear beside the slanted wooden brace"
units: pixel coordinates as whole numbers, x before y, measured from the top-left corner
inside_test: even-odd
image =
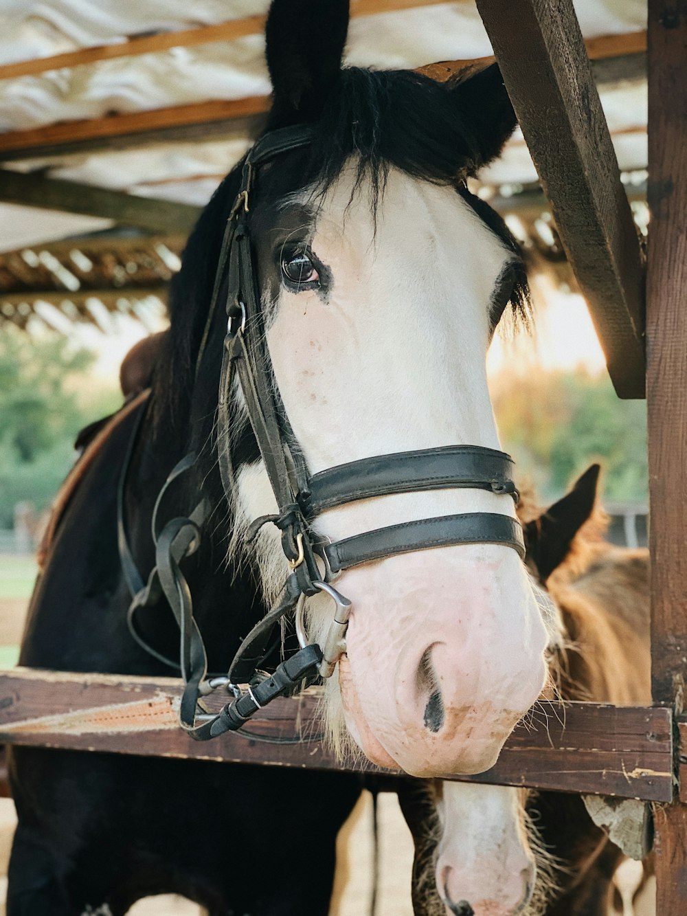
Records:
[[[496,158],[518,124],[497,63],[476,73],[462,74],[453,93],[465,121],[474,129],[471,170]]]

